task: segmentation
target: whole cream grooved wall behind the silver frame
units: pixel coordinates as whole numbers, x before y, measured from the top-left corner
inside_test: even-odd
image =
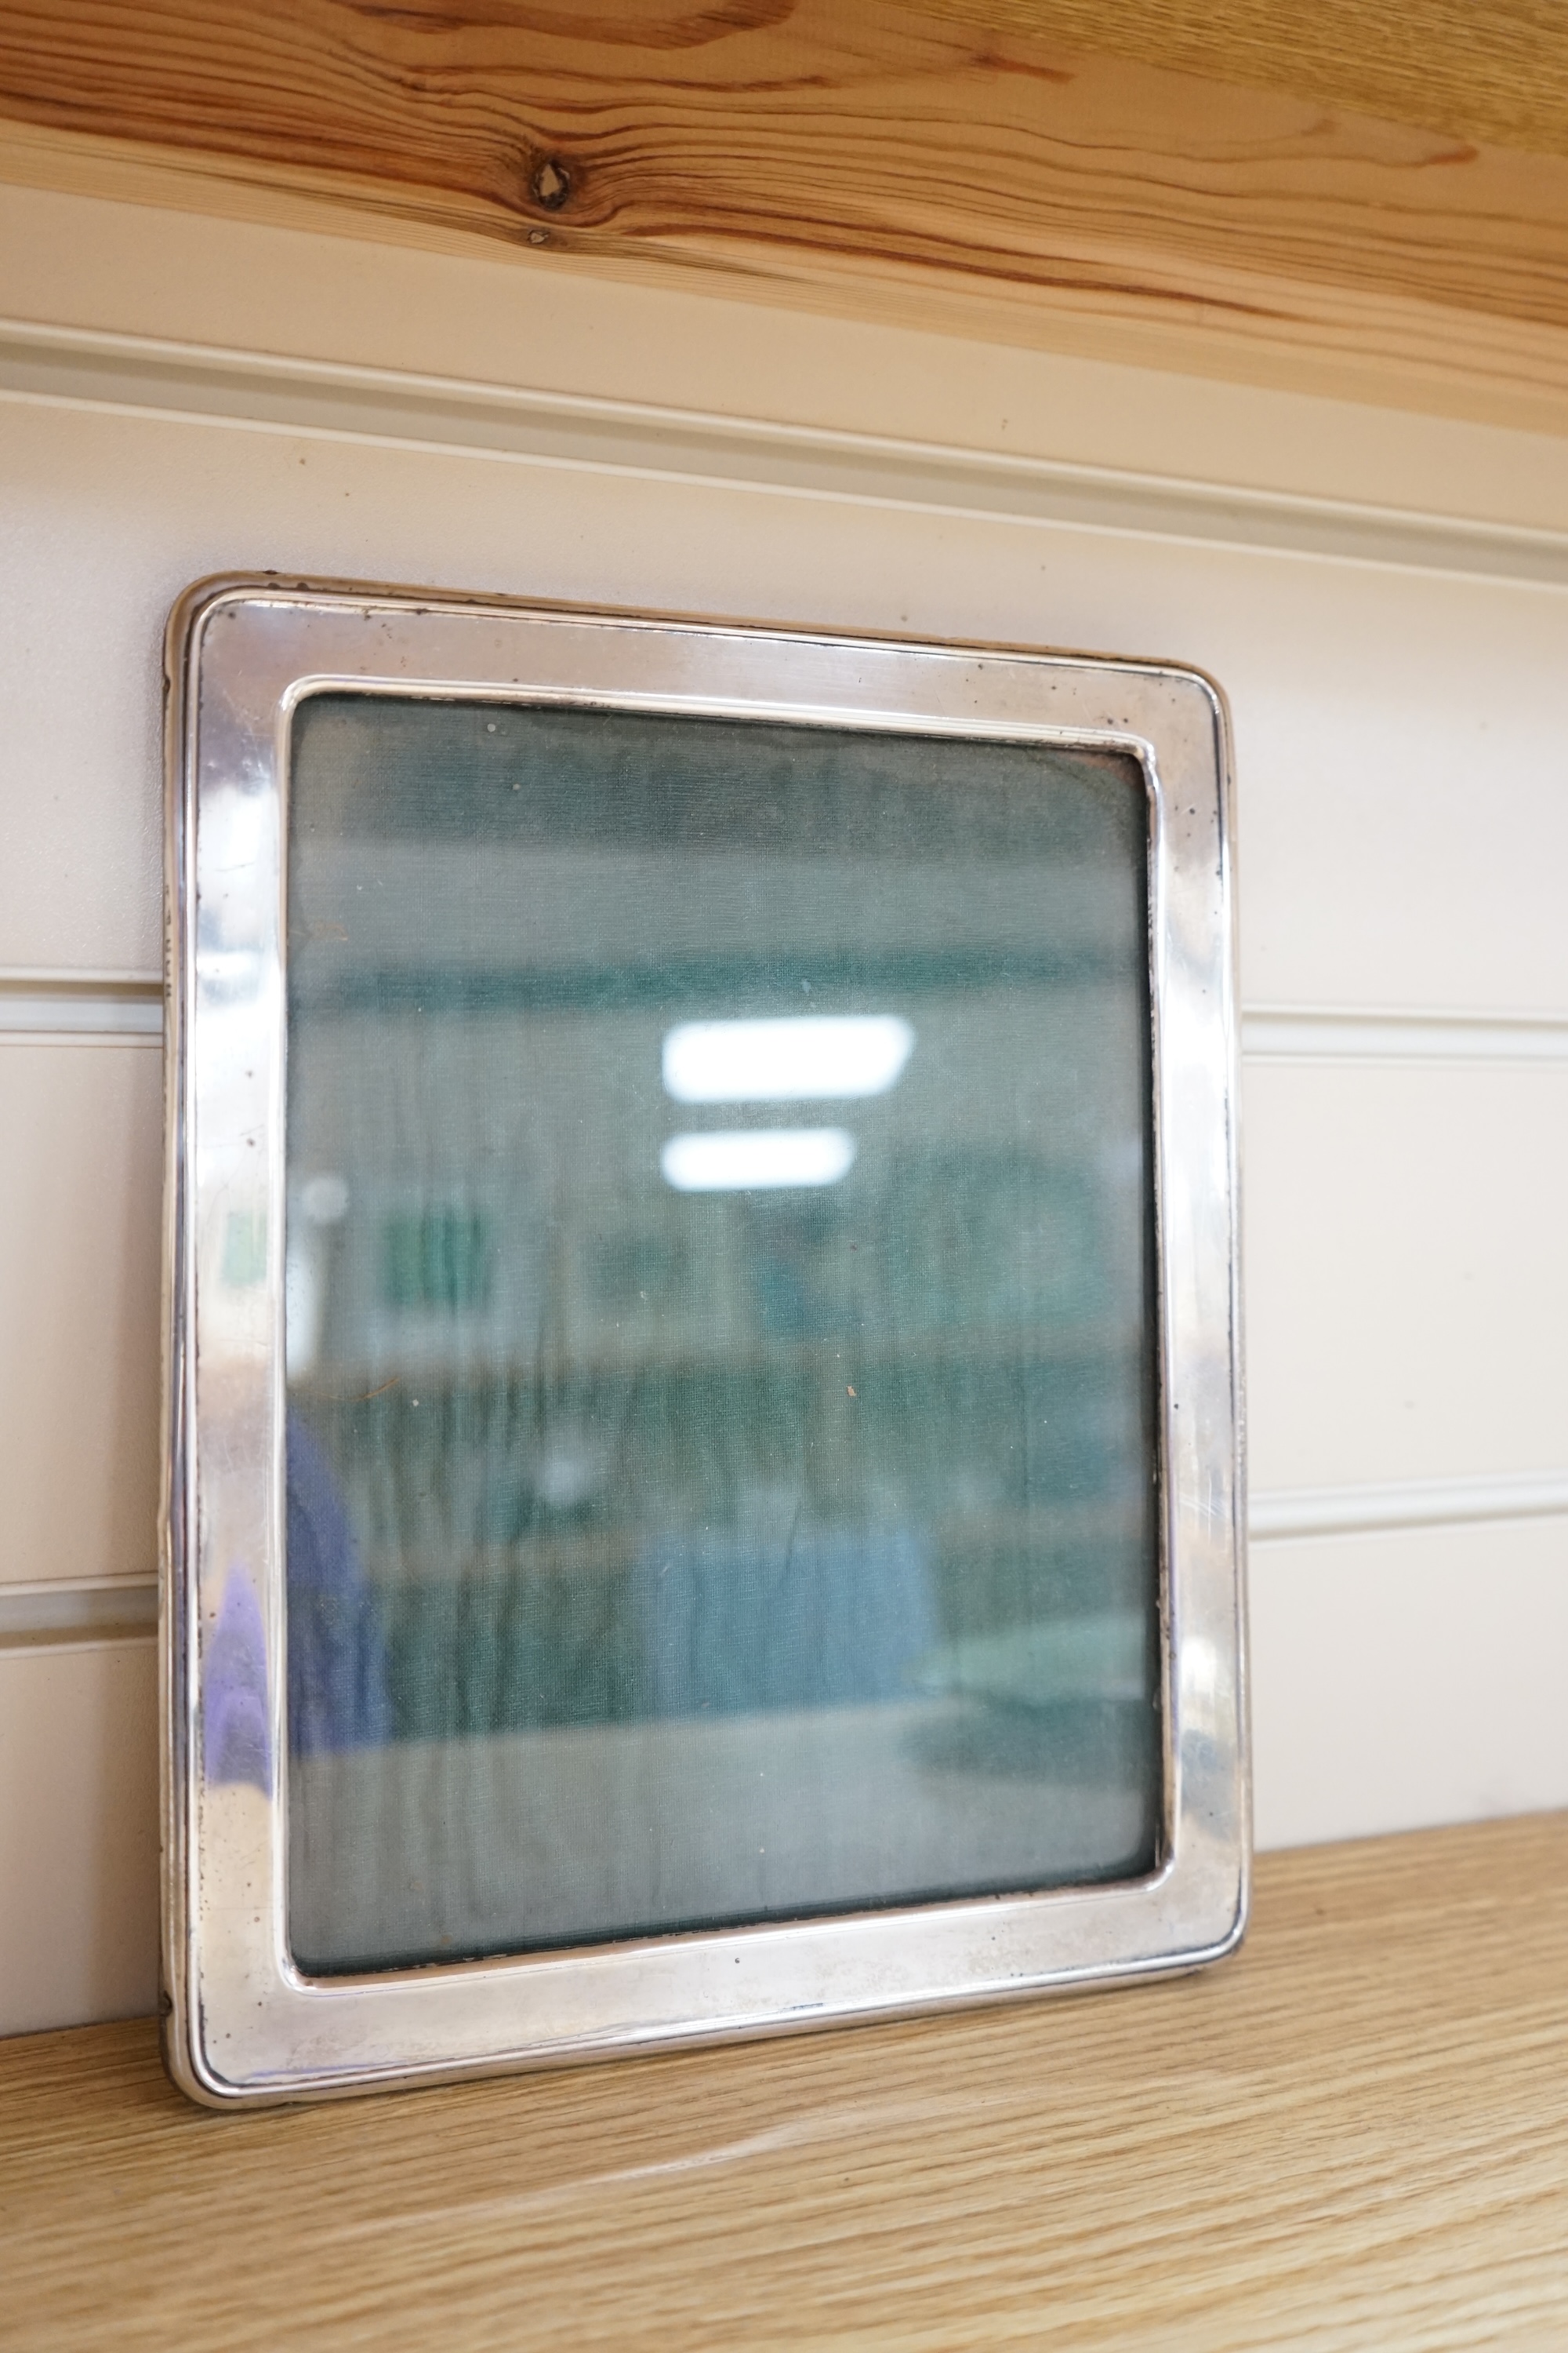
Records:
[[[160,631],[216,569],[1220,678],[1258,1833],[1568,1805],[1568,445],[26,191],[0,315],[0,2031],[155,2000],[103,1628],[155,1565]],[[550,400],[480,447],[456,379]],[[788,431],[738,480],[705,416]]]

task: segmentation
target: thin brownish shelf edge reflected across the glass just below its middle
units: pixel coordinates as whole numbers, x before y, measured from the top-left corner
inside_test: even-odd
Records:
[[[369,1405],[381,1398],[397,1398],[397,1391],[411,1384],[430,1391],[503,1386],[581,1388],[588,1381],[764,1381],[799,1374],[842,1374],[844,1379],[853,1379],[856,1372],[971,1369],[985,1365],[1013,1372],[1023,1365],[1110,1365],[1138,1355],[1143,1346],[1145,1334],[1138,1327],[1107,1332],[1103,1325],[1067,1325],[1056,1329],[1041,1329],[1039,1325],[992,1325],[961,1332],[912,1332],[900,1339],[853,1334],[837,1339],[776,1339],[733,1351],[541,1351],[527,1360],[411,1362],[400,1372],[388,1372],[386,1365],[320,1367],[292,1381],[289,1398],[301,1405]]]

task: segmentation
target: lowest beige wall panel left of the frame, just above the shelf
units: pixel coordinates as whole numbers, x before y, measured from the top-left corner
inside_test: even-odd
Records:
[[[155,1645],[0,1649],[0,2035],[155,2007]]]

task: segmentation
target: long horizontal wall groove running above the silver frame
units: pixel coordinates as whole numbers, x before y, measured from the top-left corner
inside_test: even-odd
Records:
[[[1568,588],[1568,532],[33,320],[0,398]]]

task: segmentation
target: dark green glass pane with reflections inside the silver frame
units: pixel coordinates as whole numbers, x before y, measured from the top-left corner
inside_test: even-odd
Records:
[[[1154,1864],[1145,833],[1086,753],[303,704],[306,1969]]]

